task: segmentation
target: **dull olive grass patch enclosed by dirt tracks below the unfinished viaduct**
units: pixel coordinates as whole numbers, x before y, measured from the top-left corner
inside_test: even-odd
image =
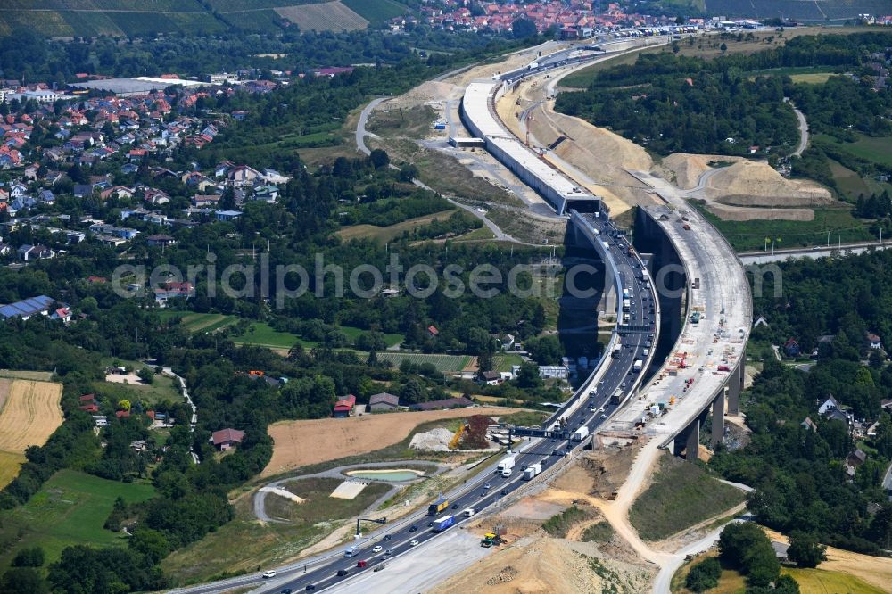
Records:
[[[644,540],[661,540],[741,503],[743,493],[690,462],[664,455],[654,482],[629,510]]]

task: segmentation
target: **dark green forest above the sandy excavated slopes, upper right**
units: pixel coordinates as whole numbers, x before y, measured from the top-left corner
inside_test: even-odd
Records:
[[[822,66],[860,74],[869,53],[885,54],[890,45],[888,33],[863,33],[796,37],[776,49],[714,60],[640,54],[633,64],[599,72],[584,92],[558,95],[556,109],[612,128],[657,154],[747,155],[756,147],[756,154],[782,156],[797,140],[785,97],[810,125],[814,117],[816,130],[852,127],[882,135],[892,95],[841,76],[824,85],[793,84],[772,69]]]

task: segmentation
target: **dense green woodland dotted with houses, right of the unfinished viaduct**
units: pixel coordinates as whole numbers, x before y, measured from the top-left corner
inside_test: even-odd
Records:
[[[768,325],[756,327],[751,340],[793,338],[805,356],[815,351],[814,363],[802,371],[766,348],[762,372],[742,396],[750,441],[709,462],[756,488],[747,506],[761,524],[870,554],[892,544],[892,504],[881,486],[892,460],[892,417],[881,408],[892,396],[892,367],[866,339],[892,331],[890,266],[889,252],[781,266],[783,295],[756,299],[754,317]],[[818,413],[831,396],[851,415],[848,423]],[[850,466],[855,448],[867,456]]]

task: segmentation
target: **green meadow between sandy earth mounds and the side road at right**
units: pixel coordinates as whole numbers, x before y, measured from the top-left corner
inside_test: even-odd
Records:
[[[837,241],[859,242],[873,239],[868,223],[855,219],[843,209],[814,209],[814,220],[722,220],[706,210],[700,203],[691,202],[724,235],[731,247],[739,252],[761,251],[765,237],[780,237],[775,247],[796,248],[824,245],[830,231],[830,243]]]

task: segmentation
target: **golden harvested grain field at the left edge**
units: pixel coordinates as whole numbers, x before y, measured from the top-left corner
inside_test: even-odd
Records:
[[[0,487],[19,474],[29,445],[43,445],[62,425],[62,384],[0,379]]]

